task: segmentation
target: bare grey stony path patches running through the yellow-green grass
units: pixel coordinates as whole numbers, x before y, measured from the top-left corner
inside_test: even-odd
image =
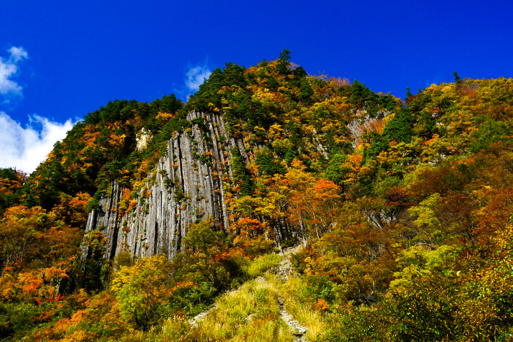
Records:
[[[278,276],[280,282],[282,284],[285,284],[287,282],[287,280],[289,279],[289,277],[294,272],[292,264],[291,264],[291,262],[289,260],[289,255],[292,254],[292,253],[299,252],[301,250],[301,248],[302,248],[302,245],[299,245],[299,246],[288,248],[288,249],[284,250],[283,258],[282,258],[282,260],[280,262],[280,265],[278,267],[269,269],[266,272],[266,274],[270,273],[270,274],[274,274],[274,275]],[[268,284],[267,281],[264,279],[263,275],[258,276],[257,278],[254,279],[254,281],[255,282],[259,282],[259,283]],[[239,289],[232,290],[232,291],[236,292],[236,291],[239,291]],[[281,296],[278,297],[278,304],[280,305],[280,316],[284,320],[284,322],[287,324],[287,326],[290,328],[290,333],[292,335],[294,335],[294,337],[295,337],[294,340],[297,341],[297,342],[307,342],[307,339],[304,337],[304,335],[307,332],[307,328],[302,326],[298,322],[298,320],[294,319],[294,317],[290,313],[288,313],[287,310],[285,310],[285,302],[284,302],[284,300],[283,300],[283,298]],[[214,306],[211,307],[210,309],[208,309],[207,311],[204,311],[204,312],[194,316],[193,318],[191,318],[189,320],[189,323],[193,327],[197,327],[198,324],[203,319],[205,319],[205,317],[211,311],[213,311],[216,307],[217,307],[217,305],[214,304]],[[251,320],[251,317],[248,317],[247,320],[249,322]]]

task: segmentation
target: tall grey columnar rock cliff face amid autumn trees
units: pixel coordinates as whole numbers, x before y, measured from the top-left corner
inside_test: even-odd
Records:
[[[237,147],[247,160],[248,146],[242,139],[228,137],[220,115],[191,112],[187,116],[189,121],[198,118],[202,127],[193,124],[168,141],[167,153],[148,175],[134,210],[118,217],[124,188],[114,181],[110,196],[89,214],[86,231],[102,232],[109,258],[122,250],[138,257],[166,253],[173,258],[190,223],[212,217],[228,227],[223,176],[232,177],[230,149]]]

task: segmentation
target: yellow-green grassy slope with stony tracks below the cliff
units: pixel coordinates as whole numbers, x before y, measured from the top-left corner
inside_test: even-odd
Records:
[[[226,292],[201,320],[170,317],[161,327],[138,332],[125,341],[294,341],[296,336],[281,317],[284,309],[307,328],[302,340],[321,337],[323,314],[305,295],[306,284],[292,271],[289,255],[266,254],[247,267],[255,279]],[[267,271],[267,272],[266,272]],[[259,276],[262,273],[263,276]]]

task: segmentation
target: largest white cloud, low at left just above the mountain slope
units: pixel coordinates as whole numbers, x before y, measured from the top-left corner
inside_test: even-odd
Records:
[[[34,114],[24,128],[0,112],[0,167],[16,167],[30,174],[73,125],[71,119],[60,123]]]

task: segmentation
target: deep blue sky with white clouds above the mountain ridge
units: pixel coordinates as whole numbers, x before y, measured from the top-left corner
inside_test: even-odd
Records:
[[[0,17],[0,167],[28,172],[109,100],[185,100],[198,76],[285,48],[310,74],[401,98],[406,87],[452,81],[455,70],[513,77],[510,0],[4,0]]]

